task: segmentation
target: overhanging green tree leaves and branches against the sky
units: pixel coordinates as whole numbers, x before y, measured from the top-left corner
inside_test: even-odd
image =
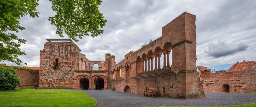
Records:
[[[98,10],[101,0],[49,0],[52,9],[56,12],[54,17],[49,17],[51,24],[57,27],[56,34],[63,37],[63,31],[75,42],[77,37],[99,36],[103,33],[102,27],[106,20]],[[19,26],[20,17],[30,15],[38,17],[36,10],[38,0],[0,0],[0,62],[11,61],[22,65],[18,59],[20,55],[26,55],[20,49],[21,44],[27,40],[20,39],[14,33],[25,28]],[[26,64],[26,63],[25,63]]]

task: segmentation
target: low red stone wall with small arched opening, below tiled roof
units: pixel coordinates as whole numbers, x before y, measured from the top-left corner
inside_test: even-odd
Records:
[[[209,78],[201,78],[204,92],[225,92],[229,85],[231,93],[256,92],[256,68],[244,71],[211,73]]]

